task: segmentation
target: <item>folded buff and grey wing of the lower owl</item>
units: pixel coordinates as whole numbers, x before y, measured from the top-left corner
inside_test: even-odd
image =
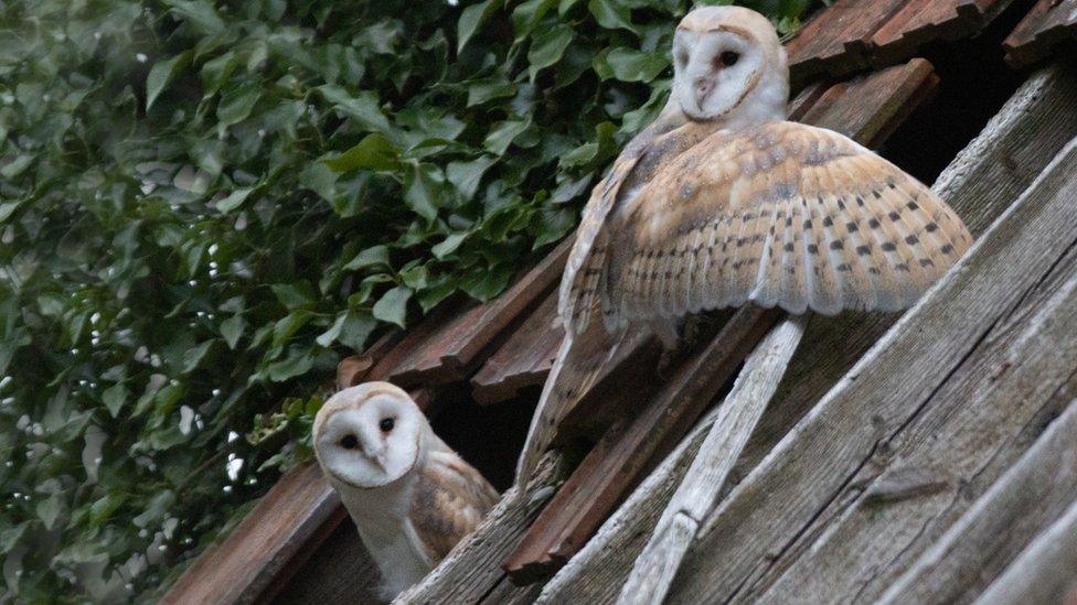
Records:
[[[500,496],[455,452],[431,451],[415,486],[408,518],[436,565],[479,525]]]

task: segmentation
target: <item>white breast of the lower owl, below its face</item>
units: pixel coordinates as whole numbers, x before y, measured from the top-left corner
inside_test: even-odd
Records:
[[[355,521],[363,544],[382,572],[383,596],[390,598],[417,583],[433,569],[408,520],[415,480],[412,474],[374,489],[334,485],[349,516]]]

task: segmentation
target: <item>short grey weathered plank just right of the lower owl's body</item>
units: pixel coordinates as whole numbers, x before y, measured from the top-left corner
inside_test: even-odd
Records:
[[[527,491],[540,495],[532,501],[506,491],[501,501],[479,523],[471,537],[461,542],[423,582],[397,598],[397,603],[440,604],[479,603],[490,595],[498,602],[530,595],[531,587],[512,585],[498,565],[512,551],[542,505],[541,495],[552,493],[564,476],[558,452],[547,453],[538,464]]]

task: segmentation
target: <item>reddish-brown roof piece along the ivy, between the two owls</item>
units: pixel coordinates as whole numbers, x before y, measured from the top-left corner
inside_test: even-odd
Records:
[[[557,283],[572,242],[572,237],[566,238],[497,299],[437,324],[423,346],[395,360],[388,379],[404,388],[466,379],[481,361],[483,349]]]

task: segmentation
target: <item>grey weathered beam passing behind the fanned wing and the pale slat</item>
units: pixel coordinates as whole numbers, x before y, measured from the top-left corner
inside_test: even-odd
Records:
[[[1034,74],[939,176],[935,191],[974,234],[1015,198],[1069,138],[1077,134],[1077,71],[1056,66]],[[771,404],[724,490],[747,476],[893,324],[886,314],[815,317]],[[697,430],[699,431],[699,430]],[[617,597],[644,539],[671,497],[702,437],[682,444],[605,523],[595,539],[545,586],[540,603],[605,603]]]

